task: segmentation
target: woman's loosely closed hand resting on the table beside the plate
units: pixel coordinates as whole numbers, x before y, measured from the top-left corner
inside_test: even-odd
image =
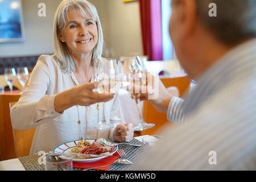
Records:
[[[133,139],[133,124],[117,125],[113,137],[117,142],[130,142]]]

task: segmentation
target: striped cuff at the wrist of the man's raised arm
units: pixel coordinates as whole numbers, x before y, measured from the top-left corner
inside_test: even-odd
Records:
[[[184,100],[182,98],[172,97],[167,111],[167,118],[169,121],[177,124],[184,122],[183,104]]]

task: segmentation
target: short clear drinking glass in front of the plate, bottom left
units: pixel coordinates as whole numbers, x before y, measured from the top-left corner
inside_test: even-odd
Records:
[[[48,153],[44,158],[46,160],[46,171],[73,170],[72,155]]]

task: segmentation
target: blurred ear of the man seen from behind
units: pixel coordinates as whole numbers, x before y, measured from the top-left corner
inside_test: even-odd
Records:
[[[191,36],[195,31],[197,23],[197,11],[195,0],[179,0],[181,9],[181,23],[183,24],[184,35]]]

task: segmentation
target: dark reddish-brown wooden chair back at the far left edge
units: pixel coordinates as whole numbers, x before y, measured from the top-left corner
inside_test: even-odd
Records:
[[[18,101],[19,97],[20,94],[0,93],[0,160],[15,158],[9,103]]]

